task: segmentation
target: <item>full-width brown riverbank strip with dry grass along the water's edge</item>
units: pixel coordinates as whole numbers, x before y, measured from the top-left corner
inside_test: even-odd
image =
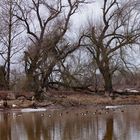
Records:
[[[27,100],[26,98],[0,101],[1,109],[20,109],[20,108],[88,108],[90,106],[100,107],[107,105],[138,105],[140,104],[140,95],[115,95],[111,98],[105,95],[86,94],[80,92],[61,93],[47,96],[45,100]]]

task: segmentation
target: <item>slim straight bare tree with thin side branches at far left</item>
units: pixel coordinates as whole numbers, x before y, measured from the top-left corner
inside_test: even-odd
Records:
[[[11,59],[21,49],[17,46],[18,37],[21,34],[19,21],[14,17],[16,0],[3,0],[0,2],[1,19],[1,57],[6,70],[7,89],[10,88]]]

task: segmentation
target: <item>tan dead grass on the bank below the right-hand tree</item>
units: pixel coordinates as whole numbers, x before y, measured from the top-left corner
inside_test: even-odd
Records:
[[[123,105],[123,104],[140,104],[140,95],[122,95],[112,99],[108,96],[72,94],[65,98],[56,98],[58,104],[62,105]]]

